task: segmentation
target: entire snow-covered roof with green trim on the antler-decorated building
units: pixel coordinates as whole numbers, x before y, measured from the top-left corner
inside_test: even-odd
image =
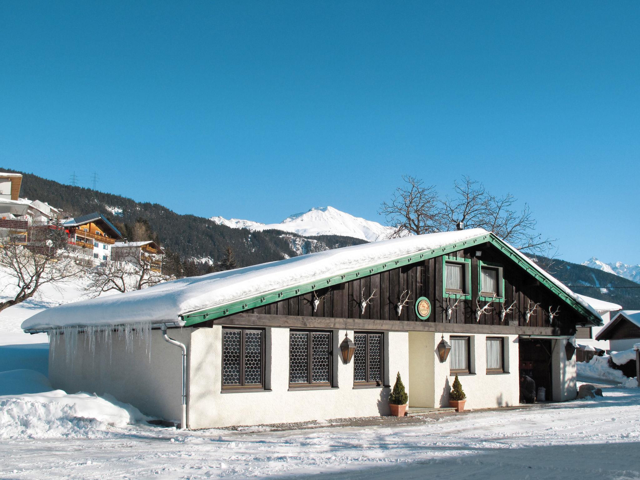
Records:
[[[490,242],[593,324],[600,316],[586,301],[548,275],[525,255],[482,228],[418,235],[326,250],[251,267],[180,278],[145,290],[49,308],[26,319],[25,330],[86,324],[163,323],[184,319],[195,324],[255,305],[314,291],[328,284],[372,275],[385,268]]]

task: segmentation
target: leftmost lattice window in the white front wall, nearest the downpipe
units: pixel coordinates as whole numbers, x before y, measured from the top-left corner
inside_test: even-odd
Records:
[[[264,386],[264,330],[223,328],[222,388]]]

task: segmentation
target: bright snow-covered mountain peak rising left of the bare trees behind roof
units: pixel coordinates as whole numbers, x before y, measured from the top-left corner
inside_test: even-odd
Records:
[[[340,235],[374,242],[386,239],[392,227],[385,227],[377,221],[365,220],[342,212],[333,207],[314,207],[307,212],[288,216],[281,223],[259,223],[251,220],[238,220],[216,216],[211,221],[231,228],[249,228],[250,230],[283,230],[303,237],[318,235]]]

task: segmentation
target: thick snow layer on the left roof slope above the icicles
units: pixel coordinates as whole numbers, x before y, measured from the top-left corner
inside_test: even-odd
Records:
[[[282,291],[294,285],[321,281],[330,276],[488,235],[489,232],[482,228],[472,228],[411,236],[337,248],[209,275],[180,278],[145,290],[100,296],[93,300],[49,308],[24,321],[22,328],[174,322],[179,319],[180,314]],[[540,270],[537,266],[534,268]]]

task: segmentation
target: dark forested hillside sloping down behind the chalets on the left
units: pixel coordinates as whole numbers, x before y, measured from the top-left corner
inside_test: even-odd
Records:
[[[238,266],[249,266],[295,257],[300,253],[365,243],[350,237],[321,236],[306,239],[278,230],[250,232],[241,228],[229,228],[206,218],[177,214],[163,205],[135,202],[125,196],[60,184],[4,167],[0,167],[0,170],[24,175],[20,196],[49,202],[72,215],[99,211],[123,231],[127,230],[124,224],[132,225],[139,219],[146,220],[160,243],[183,260],[193,258],[220,262],[230,246]]]

